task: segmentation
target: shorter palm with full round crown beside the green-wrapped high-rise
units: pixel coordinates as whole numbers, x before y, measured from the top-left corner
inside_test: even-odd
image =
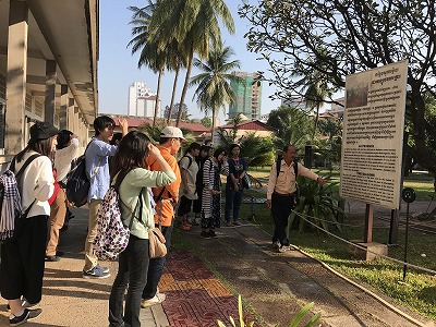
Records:
[[[235,101],[235,94],[230,82],[238,82],[239,77],[229,72],[239,68],[240,62],[239,60],[229,61],[233,53],[230,47],[223,47],[221,44],[213,46],[206,62],[197,58],[194,60],[194,65],[204,73],[192,77],[190,85],[198,85],[194,98],[197,98],[201,110],[205,110],[206,113],[211,110],[213,140],[219,108],[226,108],[226,105],[233,105]]]

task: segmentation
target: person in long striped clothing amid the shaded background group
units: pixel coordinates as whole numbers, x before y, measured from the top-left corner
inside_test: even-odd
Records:
[[[205,239],[216,238],[215,228],[221,220],[221,174],[229,174],[226,150],[217,148],[203,167],[202,233]]]

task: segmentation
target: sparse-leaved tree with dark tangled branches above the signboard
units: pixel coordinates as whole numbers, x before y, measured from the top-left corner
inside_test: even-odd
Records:
[[[271,77],[263,78],[278,87],[275,97],[304,96],[296,82],[316,73],[335,94],[347,75],[408,59],[407,150],[436,173],[436,145],[427,142],[436,129],[426,116],[426,101],[436,98],[435,0],[261,0],[239,14],[252,24],[249,50],[269,63]]]

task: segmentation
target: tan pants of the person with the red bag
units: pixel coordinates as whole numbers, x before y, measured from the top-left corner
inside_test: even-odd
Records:
[[[66,214],[65,191],[60,189],[55,202],[50,206],[50,233],[46,249],[46,256],[56,255],[59,244],[59,230],[63,226]]]

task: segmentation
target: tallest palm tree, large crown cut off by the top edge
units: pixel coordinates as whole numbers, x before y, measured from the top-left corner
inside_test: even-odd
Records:
[[[186,75],[180,99],[184,104],[194,53],[207,59],[210,43],[220,44],[219,21],[234,33],[234,22],[225,0],[161,0],[153,15],[152,39],[158,40],[158,48],[165,48],[172,39],[179,41],[179,51],[186,58]],[[171,9],[171,10],[169,10]],[[181,112],[178,114],[179,125]]]

